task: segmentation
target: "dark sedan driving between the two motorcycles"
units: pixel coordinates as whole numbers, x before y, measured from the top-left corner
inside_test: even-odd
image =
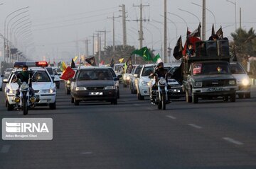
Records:
[[[71,103],[79,105],[81,101],[107,101],[117,105],[117,86],[110,69],[104,67],[86,67],[70,78]]]

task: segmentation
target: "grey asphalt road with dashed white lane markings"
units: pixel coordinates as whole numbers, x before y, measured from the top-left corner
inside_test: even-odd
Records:
[[[256,168],[256,89],[235,103],[173,101],[157,110],[121,88],[118,105],[70,103],[63,84],[57,109],[26,117],[53,118],[52,141],[0,141],[0,168]],[[6,111],[0,92],[0,117]]]

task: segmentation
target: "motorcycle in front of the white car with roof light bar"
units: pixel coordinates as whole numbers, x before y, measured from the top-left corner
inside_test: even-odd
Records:
[[[28,109],[33,107],[36,102],[36,96],[32,95],[33,88],[32,88],[32,79],[33,76],[36,74],[36,71],[33,72],[33,75],[29,74],[28,83],[25,81],[21,83],[19,87],[19,95],[14,98],[16,103],[16,108],[18,110],[23,110],[23,115],[28,115]],[[17,78],[17,77],[16,77]],[[19,79],[18,79],[19,81]]]

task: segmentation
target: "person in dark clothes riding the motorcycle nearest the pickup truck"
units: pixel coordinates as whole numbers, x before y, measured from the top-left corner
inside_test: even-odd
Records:
[[[154,91],[157,90],[158,78],[161,78],[161,77],[165,78],[167,72],[168,72],[168,71],[167,71],[166,69],[164,69],[164,63],[163,63],[163,62],[160,62],[159,64],[156,65],[156,68],[155,68],[154,73],[151,73],[151,74],[149,75],[151,78],[152,78],[152,77],[156,77],[156,75],[157,75],[157,78],[155,78],[155,83],[154,83],[154,85],[152,86],[152,90],[151,90],[151,98],[150,98],[150,100],[151,100],[151,103],[153,103],[153,104],[154,104],[154,100],[155,100],[155,98],[156,98],[156,94],[154,94]],[[168,85],[167,79],[166,79],[166,83],[167,83],[167,85]],[[168,89],[168,90],[171,89],[171,86],[168,85],[168,86],[167,86],[167,89]]]

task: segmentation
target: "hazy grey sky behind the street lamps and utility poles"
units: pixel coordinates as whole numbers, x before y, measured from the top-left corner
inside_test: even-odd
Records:
[[[242,28],[249,30],[256,27],[255,0],[230,0],[236,2],[237,27],[240,24],[240,8],[242,9]],[[168,14],[168,43],[171,48],[176,44],[176,36],[182,35],[185,41],[186,26],[193,31],[198,27],[198,18],[201,21],[202,0],[167,0],[167,11],[176,13],[186,23],[175,16]],[[6,16],[19,8],[29,6],[26,9],[13,13],[7,18],[11,33],[17,37],[18,48],[26,50],[33,59],[43,57],[69,59],[75,56],[77,50],[80,54],[85,53],[85,39],[90,40],[89,54],[92,54],[92,35],[97,30],[107,30],[107,45],[112,45],[112,19],[107,17],[119,16],[119,5],[124,4],[127,11],[127,43],[139,47],[138,29],[140,0],[0,0],[0,33],[4,35],[4,21]],[[142,0],[142,4],[149,5],[143,8],[143,18],[149,22],[143,22],[144,42],[143,45],[160,49],[161,40],[164,40],[164,0]],[[135,6],[133,6],[135,5]],[[189,11],[193,13],[181,11]],[[207,38],[210,36],[211,27],[215,23],[218,30],[223,27],[224,36],[230,37],[235,30],[235,5],[226,0],[206,0],[206,31]],[[24,12],[16,16],[17,14]],[[29,15],[29,16],[27,16]],[[215,16],[215,20],[214,17]],[[15,17],[16,16],[16,17]],[[23,17],[23,18],[22,18]],[[11,18],[13,18],[11,20]],[[29,23],[31,22],[31,23]],[[26,24],[27,23],[27,24]],[[21,26],[25,24],[25,27]],[[115,44],[122,44],[122,18],[115,19]],[[12,37],[14,37],[12,35]],[[9,35],[10,36],[10,35]],[[14,38],[13,38],[14,39]],[[104,36],[101,36],[104,40]],[[12,40],[15,42],[15,40]],[[3,40],[0,40],[1,51]],[[104,43],[102,42],[102,47]],[[1,60],[3,54],[1,54]]]

